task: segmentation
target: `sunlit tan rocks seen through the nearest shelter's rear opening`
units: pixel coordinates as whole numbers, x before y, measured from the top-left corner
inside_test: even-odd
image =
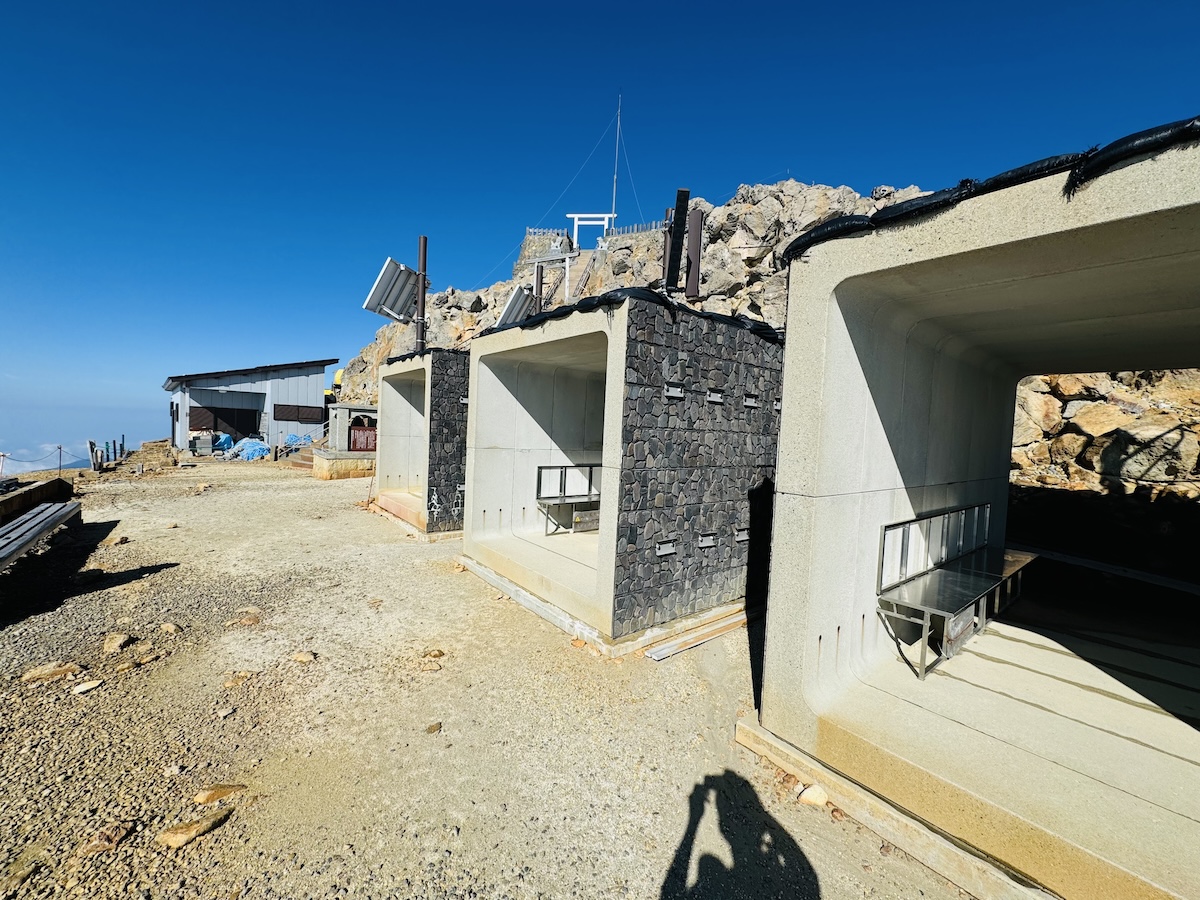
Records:
[[[1031,376],[1016,390],[1012,481],[1200,497],[1200,371]]]

